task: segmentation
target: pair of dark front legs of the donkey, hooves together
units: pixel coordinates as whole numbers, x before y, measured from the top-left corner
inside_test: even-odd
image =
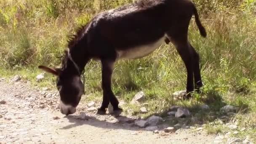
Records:
[[[113,115],[120,115],[120,113],[123,111],[118,107],[119,102],[111,88],[111,77],[114,64],[114,60],[101,59],[103,101],[101,104],[101,108],[98,110],[98,113],[106,112],[105,109],[108,107],[109,102],[113,106]]]

